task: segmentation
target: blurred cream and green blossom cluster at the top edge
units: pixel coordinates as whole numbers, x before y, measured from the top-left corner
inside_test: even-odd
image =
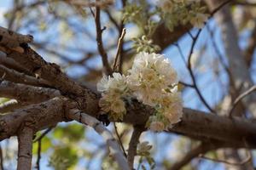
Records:
[[[178,24],[187,24],[202,28],[209,14],[201,7],[201,0],[160,0],[159,7],[166,20],[166,26],[172,31]]]

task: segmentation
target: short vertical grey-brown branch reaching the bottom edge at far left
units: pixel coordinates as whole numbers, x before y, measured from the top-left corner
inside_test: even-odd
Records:
[[[17,170],[27,170],[32,167],[32,138],[31,127],[23,127],[18,133],[19,150]]]

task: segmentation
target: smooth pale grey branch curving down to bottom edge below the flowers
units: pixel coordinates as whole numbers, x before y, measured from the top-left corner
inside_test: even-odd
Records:
[[[85,125],[93,127],[97,133],[101,134],[103,139],[106,140],[110,149],[110,154],[114,157],[115,161],[119,164],[120,169],[130,170],[128,163],[123,155],[122,150],[119,148],[119,144],[113,138],[112,133],[102,125],[101,122],[96,120],[95,117],[85,114],[83,111],[73,109],[68,113],[69,118],[81,122]]]

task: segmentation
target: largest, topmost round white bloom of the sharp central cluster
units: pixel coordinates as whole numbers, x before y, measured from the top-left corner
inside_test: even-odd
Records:
[[[129,88],[146,105],[156,105],[161,90],[177,83],[176,71],[162,54],[137,54],[129,73]]]

